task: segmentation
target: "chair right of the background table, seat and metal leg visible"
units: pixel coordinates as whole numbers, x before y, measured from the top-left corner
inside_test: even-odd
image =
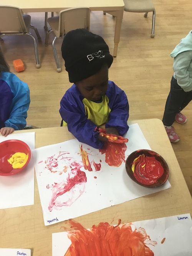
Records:
[[[126,12],[145,12],[144,14],[145,18],[147,18],[148,12],[153,12],[151,37],[154,38],[156,10],[152,0],[123,0],[123,1],[125,4],[124,11]]]

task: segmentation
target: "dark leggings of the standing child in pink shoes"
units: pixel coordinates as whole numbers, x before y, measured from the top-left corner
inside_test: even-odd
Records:
[[[184,91],[172,76],[170,81],[170,92],[167,97],[165,111],[163,115],[163,124],[171,126],[175,121],[175,115],[182,111],[192,100],[192,91]]]

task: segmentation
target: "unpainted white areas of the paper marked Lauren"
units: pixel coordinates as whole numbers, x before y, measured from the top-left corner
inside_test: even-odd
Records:
[[[150,236],[150,239],[157,242],[155,246],[147,245],[154,253],[154,256],[192,255],[192,220],[190,214],[136,221],[132,224],[134,224],[137,229],[140,227],[144,228],[147,235]],[[134,230],[133,226],[132,230]],[[52,234],[53,256],[65,255],[71,245],[67,234],[68,232]],[[163,242],[162,240],[164,238],[165,240]],[[89,254],[89,256],[92,256],[92,254]]]

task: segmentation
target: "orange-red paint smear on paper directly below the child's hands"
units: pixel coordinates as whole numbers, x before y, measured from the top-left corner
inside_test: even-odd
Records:
[[[120,166],[125,160],[125,151],[127,146],[125,143],[110,143],[105,142],[99,152],[103,155],[105,153],[105,161],[109,166]]]

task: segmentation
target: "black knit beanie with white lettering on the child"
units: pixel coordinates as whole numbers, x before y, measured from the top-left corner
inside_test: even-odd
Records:
[[[113,62],[104,39],[84,28],[66,33],[61,52],[71,83],[96,74],[104,63],[109,68]]]

